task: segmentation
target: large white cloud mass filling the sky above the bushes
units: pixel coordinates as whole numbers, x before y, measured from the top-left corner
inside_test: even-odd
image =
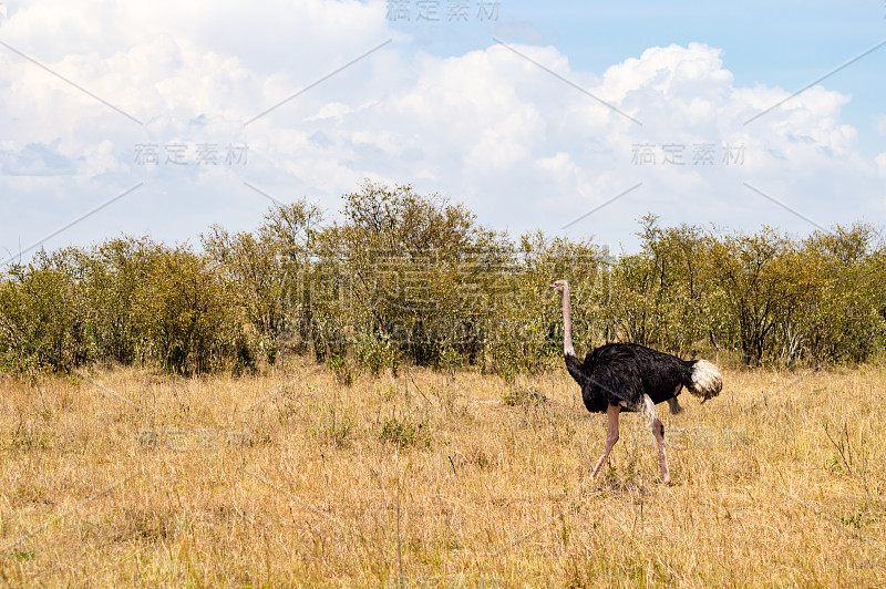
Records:
[[[610,244],[630,241],[647,211],[666,223],[806,230],[743,183],[830,224],[882,199],[886,174],[886,155],[865,158],[842,122],[847,95],[817,85],[748,122],[789,93],[735,86],[722,51],[700,43],[650,48],[602,74],[576,70],[555,46],[511,45],[580,92],[501,44],[449,58],[414,52],[389,30],[383,3],[33,2],[0,21],[0,37],[145,123],[0,48],[0,190],[45,211],[0,221],[4,248],[138,182],[131,202],[109,207],[119,226],[86,223],[55,245],[102,231],[185,239],[210,223],[248,228],[268,202],[244,182],[334,210],[364,177],[449,194],[499,228],[548,231],[642,183],[571,229]],[[876,124],[886,133],[886,118]],[[249,162],[145,166],[136,162],[145,143],[192,154],[245,143]],[[642,146],[655,164],[638,165]],[[682,165],[664,164],[666,148]]]

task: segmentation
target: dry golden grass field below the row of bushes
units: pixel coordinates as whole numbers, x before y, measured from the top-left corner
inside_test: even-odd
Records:
[[[662,487],[635,414],[589,479],[606,417],[565,369],[8,376],[0,582],[886,586],[886,369],[724,380],[659,406]]]

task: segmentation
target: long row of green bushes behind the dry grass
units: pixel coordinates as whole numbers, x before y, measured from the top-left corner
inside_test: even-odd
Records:
[[[612,256],[591,240],[513,240],[440,195],[371,182],[321,221],[298,202],[255,231],[212,227],[203,251],[125,236],[40,251],[0,273],[0,368],[240,373],[310,353],[346,385],[401,362],[513,383],[562,366],[559,278],[579,353],[632,341],[817,366],[886,351],[886,245],[866,225],[800,239],[648,215],[640,250]]]

